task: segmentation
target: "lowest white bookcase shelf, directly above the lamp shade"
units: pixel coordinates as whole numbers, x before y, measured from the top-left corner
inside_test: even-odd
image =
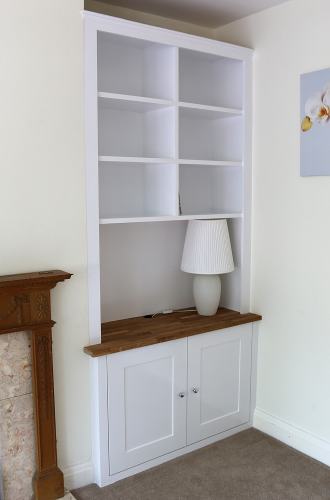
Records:
[[[187,215],[159,215],[150,217],[112,217],[100,219],[100,225],[104,224],[129,224],[135,222],[171,222],[193,219],[240,219],[242,213],[218,213],[218,214],[187,214]]]

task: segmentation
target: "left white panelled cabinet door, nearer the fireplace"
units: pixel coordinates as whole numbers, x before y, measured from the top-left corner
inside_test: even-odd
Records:
[[[111,354],[110,474],[186,445],[187,339]]]

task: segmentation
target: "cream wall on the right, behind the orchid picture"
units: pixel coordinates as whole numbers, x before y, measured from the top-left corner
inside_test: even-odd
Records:
[[[329,19],[329,0],[293,0],[219,29],[218,39],[256,49],[257,424],[282,425],[273,433],[293,445],[296,428],[306,431],[300,437],[323,443],[330,464],[330,177],[299,176],[299,75],[330,67]]]

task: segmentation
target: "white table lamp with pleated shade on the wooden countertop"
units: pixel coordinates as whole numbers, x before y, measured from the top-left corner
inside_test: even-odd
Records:
[[[234,270],[226,219],[189,221],[181,270],[195,274],[193,295],[198,314],[213,316],[220,303],[219,275]]]

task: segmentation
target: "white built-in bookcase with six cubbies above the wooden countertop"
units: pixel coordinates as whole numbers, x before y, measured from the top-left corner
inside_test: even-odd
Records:
[[[189,219],[226,218],[249,309],[252,51],[85,13],[90,336],[193,304]]]

